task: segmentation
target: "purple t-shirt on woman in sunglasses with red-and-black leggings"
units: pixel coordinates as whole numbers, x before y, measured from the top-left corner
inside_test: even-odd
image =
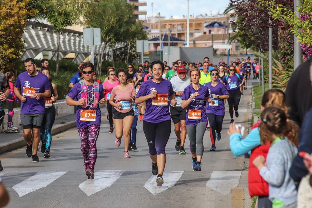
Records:
[[[223,85],[219,80],[216,86],[212,87],[211,86],[212,82],[209,82],[206,87],[208,88],[209,91],[209,96],[211,99],[212,98],[212,94],[215,95],[226,95],[229,94],[227,92],[227,88],[225,85]],[[206,113],[213,113],[215,115],[218,116],[224,116],[224,101],[223,99],[215,99],[215,104],[212,105],[211,103],[207,103],[206,104]]]

